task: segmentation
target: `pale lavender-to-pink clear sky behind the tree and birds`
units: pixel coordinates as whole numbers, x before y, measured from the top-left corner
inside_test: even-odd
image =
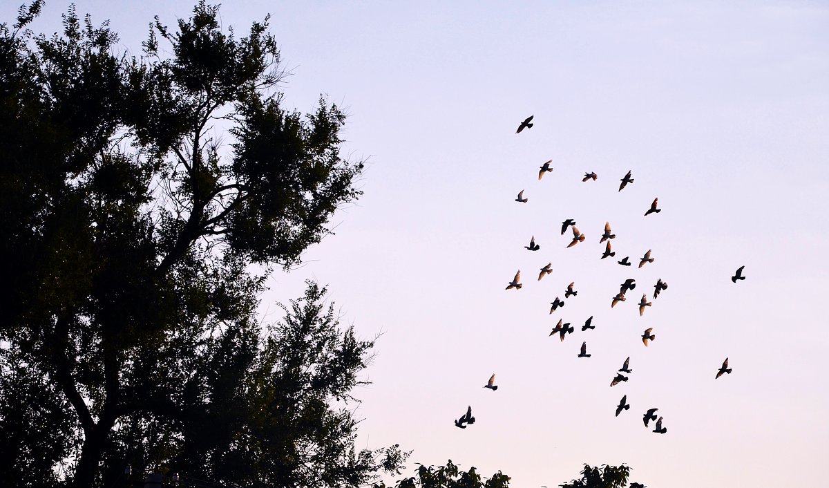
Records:
[[[192,8],[76,5],[135,55],[153,15],[172,26]],[[51,0],[32,27],[58,30],[67,6]],[[625,463],[647,486],[825,482],[829,2],[240,1],[221,17],[241,34],[267,13],[286,103],[346,107],[343,154],[367,169],[336,234],[269,280],[262,315],[279,320],[274,304],[313,279],[343,325],[380,335],[356,390],[359,447],[413,451],[407,476],[451,459],[517,487],[585,462]],[[662,212],[644,217],[653,198]],[[586,235],[569,249],[565,218]],[[599,259],[604,222],[634,266]],[[519,269],[524,287],[504,290]],[[626,278],[638,286],[611,309]],[[548,314],[571,281],[579,295]],[[576,329],[563,342],[548,337],[559,319]],[[628,356],[630,380],[609,388]],[[482,388],[492,373],[497,392]],[[477,422],[453,427],[468,405]],[[652,407],[667,434],[642,426]]]

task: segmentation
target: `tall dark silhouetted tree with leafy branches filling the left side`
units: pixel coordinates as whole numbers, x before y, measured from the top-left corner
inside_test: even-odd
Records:
[[[267,17],[237,38],[199,2],[174,29],[156,17],[137,59],[74,7],[62,36],[34,34],[40,10],[0,26],[0,480],[395,471],[397,447],[354,446],[372,343],[337,327],[325,290],[309,283],[278,325],[255,317],[265,276],[359,195],[342,111],[284,109]]]

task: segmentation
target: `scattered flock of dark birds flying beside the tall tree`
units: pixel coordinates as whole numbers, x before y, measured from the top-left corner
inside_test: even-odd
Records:
[[[516,130],[516,134],[521,133],[521,131],[524,130],[524,129],[530,129],[533,125],[532,122],[531,122],[532,118],[533,118],[533,116],[531,115],[531,116],[527,117],[526,120],[521,122],[521,124],[518,126],[518,130]],[[553,171],[553,168],[550,166],[551,163],[552,163],[552,160],[547,161],[546,163],[541,165],[541,168],[539,168],[539,171],[538,171],[538,179],[539,180],[541,180],[541,178],[544,177],[545,173],[551,173]],[[599,178],[599,176],[596,173],[592,173],[592,172],[591,173],[584,173],[584,178],[582,178],[582,182],[587,182],[588,180],[591,180],[591,179],[595,181],[598,178]],[[628,184],[633,183],[634,180],[633,180],[633,178],[631,178],[631,172],[628,171],[628,173],[625,174],[624,177],[621,178],[620,181],[622,183],[619,184],[619,188],[618,188],[619,192],[621,192],[626,186],[628,186]],[[518,203],[527,203],[528,198],[524,197],[524,190],[521,190],[521,192],[518,193],[518,196],[516,197],[515,201],[518,202]],[[647,212],[645,212],[645,217],[647,217],[648,215],[650,215],[652,213],[662,212],[662,209],[658,207],[658,204],[659,204],[659,198],[654,198],[653,203],[651,203],[651,207],[647,209]],[[576,222],[571,218],[566,219],[565,222],[561,222],[561,235],[562,236],[565,234],[565,232],[567,232],[568,228],[573,233],[573,238],[570,241],[570,244],[567,245],[567,247],[572,247],[572,246],[575,246],[575,245],[579,244],[579,242],[584,242],[584,239],[585,239],[584,233],[580,232],[578,227],[575,227],[575,223]],[[613,256],[616,255],[616,252],[612,250],[612,246],[611,246],[611,243],[610,243],[615,237],[616,237],[616,235],[613,234],[612,231],[611,231],[610,223],[605,222],[604,223],[604,234],[602,234],[602,236],[599,240],[599,243],[602,243],[602,242],[607,242],[607,243],[605,244],[604,253],[601,256],[601,259],[604,259],[606,257],[613,257]],[[524,248],[528,251],[538,251],[539,249],[541,249],[541,246],[539,246],[536,243],[536,237],[533,236],[530,239],[530,245],[529,246],[524,246]],[[629,261],[629,259],[630,259],[630,256],[625,256],[625,257],[623,257],[623,259],[621,261],[617,261],[617,262],[620,266],[632,266],[633,263],[631,263]],[[641,268],[642,266],[645,266],[648,263],[652,263],[653,261],[654,261],[654,258],[651,257],[651,250],[648,249],[647,252],[645,252],[644,256],[639,258],[639,268]],[[745,266],[740,266],[737,269],[737,271],[734,272],[734,276],[731,276],[731,281],[732,282],[736,283],[737,281],[745,279],[745,277],[743,276],[744,267]],[[541,271],[538,274],[538,280],[537,281],[541,281],[542,278],[544,278],[545,276],[549,275],[552,272],[553,272],[552,271],[552,262],[549,262],[544,267],[541,268]],[[570,296],[578,295],[579,292],[577,290],[574,290],[574,285],[575,285],[575,282],[571,282],[570,285],[567,286],[567,289],[565,290],[565,300],[569,299]],[[510,281],[508,283],[506,289],[507,290],[521,290],[522,287],[523,287],[523,284],[521,283],[521,270],[518,270],[516,272],[515,276],[512,278],[512,281]],[[661,278],[659,280],[657,280],[656,285],[653,285],[653,288],[654,288],[653,300],[656,300],[657,297],[659,296],[659,294],[663,290],[667,290],[667,287],[668,287],[668,284],[667,284],[666,281],[662,281]],[[618,302],[620,302],[620,301],[626,301],[626,294],[628,293],[628,291],[633,290],[635,288],[636,288],[636,281],[633,278],[628,278],[627,280],[625,280],[622,283],[622,285],[620,285],[620,289],[619,289],[618,294],[613,296],[613,299],[611,300],[611,303],[610,303],[610,307],[611,308],[615,307],[618,304]],[[555,312],[555,310],[558,310],[558,309],[564,307],[565,306],[565,300],[560,300],[560,298],[558,296],[556,296],[555,300],[550,302],[550,314],[553,314]],[[643,294],[642,299],[639,301],[639,315],[640,316],[643,315],[645,313],[645,310],[647,310],[647,307],[650,307],[650,306],[652,306],[652,302],[648,301],[647,293]],[[591,315],[589,317],[589,319],[587,319],[584,322],[584,325],[581,327],[582,332],[584,332],[585,330],[588,330],[588,329],[595,329],[595,326],[591,325],[592,321],[593,321],[593,315]],[[656,335],[652,334],[652,331],[653,331],[653,328],[651,327],[651,328],[645,329],[644,333],[642,333],[642,344],[645,344],[645,347],[647,347],[647,344],[648,344],[649,341],[657,339]],[[567,334],[573,334],[573,332],[574,332],[574,327],[572,327],[570,325],[570,322],[563,323],[563,320],[559,320],[558,323],[555,325],[555,327],[550,332],[550,336],[555,335],[555,334],[559,334],[559,339],[560,339],[560,341],[563,342],[565,340],[565,336]],[[587,341],[586,340],[581,343],[581,348],[579,349],[578,357],[579,358],[589,358],[590,357],[590,354],[587,354]],[[616,372],[616,376],[610,382],[611,387],[616,386],[618,383],[628,381],[628,376],[625,376],[622,373],[626,373],[626,374],[632,373],[633,370],[631,368],[629,368],[629,366],[630,366],[630,357],[628,357],[627,359],[624,360],[624,364],[622,365],[622,368],[619,368],[618,371]],[[730,374],[730,373],[731,373],[731,368],[728,367],[728,358],[725,358],[725,361],[723,361],[722,366],[716,372],[715,379],[720,378],[720,376],[722,376],[723,374]],[[483,386],[484,386],[484,388],[489,388],[492,391],[496,391],[498,389],[498,387],[495,384],[495,374],[492,374],[492,376],[489,378],[489,381],[487,382],[487,384],[485,384]],[[628,410],[629,408],[630,408],[630,405],[628,404],[628,395],[624,395],[622,397],[622,399],[619,401],[618,405],[616,406],[616,417],[618,417],[620,413],[622,413],[625,410]],[[657,410],[658,410],[658,408],[648,408],[647,412],[645,412],[642,415],[642,420],[645,424],[645,427],[649,427],[650,422],[656,421],[656,423],[654,425],[654,429],[653,429],[652,432],[659,433],[659,434],[664,434],[664,433],[667,432],[667,427],[662,427],[662,417],[661,416],[657,417],[657,414],[656,414]],[[466,428],[468,425],[472,425],[473,423],[475,423],[475,417],[473,417],[473,414],[472,414],[472,407],[471,406],[467,407],[467,411],[460,418],[458,418],[458,420],[455,420],[454,423],[455,423],[455,427],[462,428],[462,429]]]

